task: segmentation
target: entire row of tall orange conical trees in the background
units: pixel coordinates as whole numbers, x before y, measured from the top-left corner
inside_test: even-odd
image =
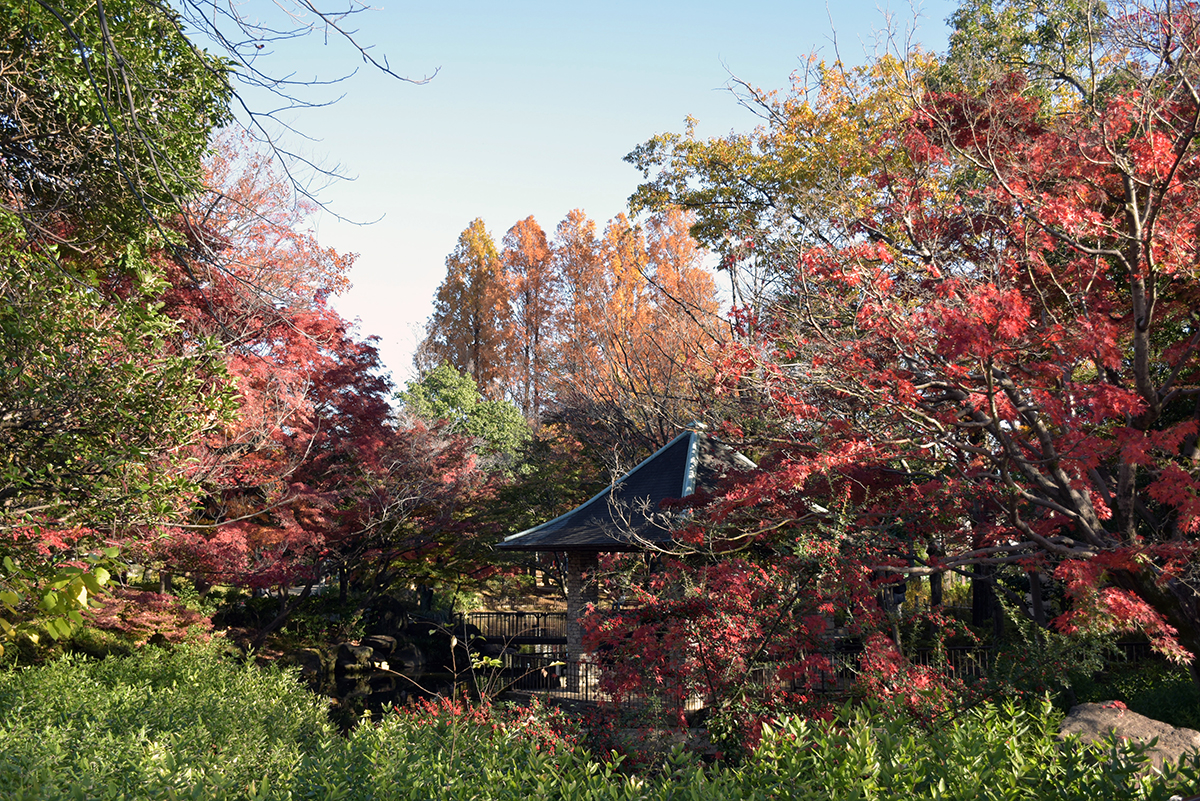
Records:
[[[721,336],[691,222],[678,209],[644,224],[618,215],[600,235],[575,209],[547,242],[528,217],[499,258],[473,222],[446,259],[418,368],[446,361],[534,423],[550,415],[630,454],[666,442],[702,416]]]

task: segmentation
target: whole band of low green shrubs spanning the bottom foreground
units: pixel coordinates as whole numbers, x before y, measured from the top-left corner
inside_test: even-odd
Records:
[[[629,771],[562,712],[436,700],[340,736],[290,675],[215,646],[0,673],[7,799],[1162,799],[1136,748],[1062,746],[1049,706],[934,730],[866,709],[768,727],[743,764],[674,752]]]

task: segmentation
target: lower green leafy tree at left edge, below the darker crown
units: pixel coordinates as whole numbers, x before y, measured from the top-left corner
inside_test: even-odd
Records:
[[[152,276],[106,297],[56,270],[53,251],[23,252],[4,222],[0,524],[113,534],[169,516],[186,489],[172,454],[223,406],[203,378],[214,351],[179,351],[175,323],[149,300]]]

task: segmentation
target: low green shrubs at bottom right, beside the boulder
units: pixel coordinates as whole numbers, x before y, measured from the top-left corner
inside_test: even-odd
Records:
[[[864,710],[835,721],[791,719],[764,733],[744,787],[791,799],[1162,799],[1195,787],[1200,764],[1152,778],[1145,748],[1058,742],[1061,717],[984,706],[923,730]]]

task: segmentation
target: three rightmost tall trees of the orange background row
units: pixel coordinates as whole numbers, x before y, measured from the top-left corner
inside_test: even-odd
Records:
[[[689,222],[674,209],[644,225],[619,215],[599,239],[580,211],[559,225],[556,257],[574,275],[564,276],[572,291],[556,339],[553,414],[626,456],[665,444],[704,415],[703,365],[721,327]]]

